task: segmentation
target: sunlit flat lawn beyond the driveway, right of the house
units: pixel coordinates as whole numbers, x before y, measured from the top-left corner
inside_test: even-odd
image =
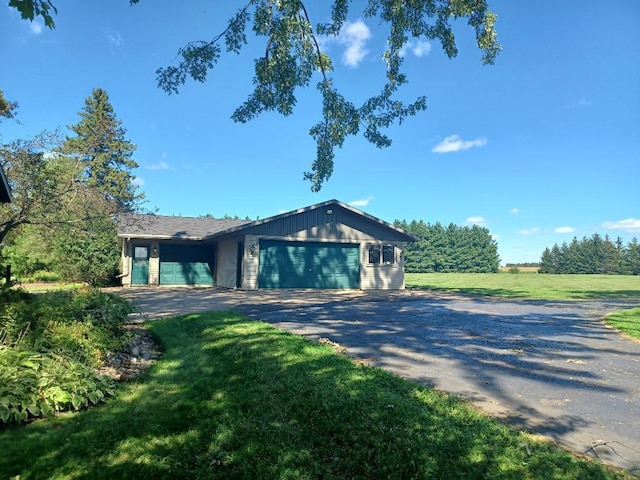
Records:
[[[640,304],[637,275],[407,273],[405,280],[408,288],[468,295],[542,300],[619,298],[637,299]]]

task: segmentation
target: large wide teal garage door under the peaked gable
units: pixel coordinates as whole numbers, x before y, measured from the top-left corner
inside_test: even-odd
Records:
[[[359,288],[360,247],[260,241],[259,288]]]

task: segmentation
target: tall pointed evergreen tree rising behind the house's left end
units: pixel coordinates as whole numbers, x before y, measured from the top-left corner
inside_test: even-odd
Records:
[[[67,138],[64,153],[78,161],[87,186],[102,192],[114,211],[135,210],[143,197],[133,183],[136,146],[125,138],[107,92],[93,90],[79,115],[80,122],[69,126],[76,136]]]

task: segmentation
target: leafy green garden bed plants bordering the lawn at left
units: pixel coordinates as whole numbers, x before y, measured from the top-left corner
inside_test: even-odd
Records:
[[[96,368],[128,338],[132,307],[98,290],[32,295],[0,289],[0,424],[103,401],[113,383]]]

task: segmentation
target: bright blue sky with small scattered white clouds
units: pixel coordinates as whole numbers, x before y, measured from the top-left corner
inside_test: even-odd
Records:
[[[538,261],[545,247],[596,232],[640,238],[640,2],[489,3],[503,46],[496,64],[481,64],[462,23],[455,59],[413,41],[402,97],[426,95],[427,111],[390,129],[390,148],[348,139],[320,193],[302,179],[321,108],[313,87],[290,117],[230,119],[251,91],[263,40],[179,95],[156,87],[155,70],[219,33],[236,2],[54,1],[53,31],[5,2],[0,89],[20,108],[19,123],[0,124],[0,141],[76,123],[101,87],[138,146],[147,207],[160,214],[265,218],[336,198],[387,221],[485,226],[502,263]],[[386,40],[360,13],[323,42],[335,83],[356,103],[382,87]]]

